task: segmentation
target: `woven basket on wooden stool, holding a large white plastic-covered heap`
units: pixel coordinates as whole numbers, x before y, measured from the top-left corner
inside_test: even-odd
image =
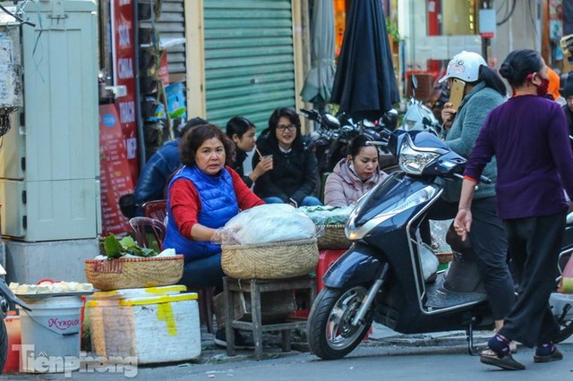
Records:
[[[319,261],[316,238],[222,245],[221,267],[235,279],[281,279],[307,275]]]

